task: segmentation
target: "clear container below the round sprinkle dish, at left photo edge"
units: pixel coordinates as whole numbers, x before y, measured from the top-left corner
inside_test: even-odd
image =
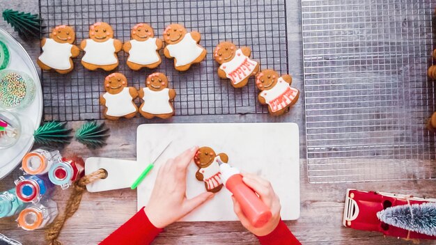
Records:
[[[22,136],[22,126],[18,116],[0,109],[0,149],[10,148]]]

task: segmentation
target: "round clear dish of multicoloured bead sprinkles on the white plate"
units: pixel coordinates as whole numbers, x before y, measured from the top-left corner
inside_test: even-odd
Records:
[[[0,71],[0,108],[24,109],[35,98],[35,83],[17,70]]]

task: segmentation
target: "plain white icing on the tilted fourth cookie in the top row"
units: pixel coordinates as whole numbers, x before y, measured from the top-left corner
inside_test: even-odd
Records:
[[[166,45],[166,48],[169,54],[176,58],[176,66],[192,63],[204,50],[203,47],[197,45],[191,33],[185,34],[182,40],[175,45]]]

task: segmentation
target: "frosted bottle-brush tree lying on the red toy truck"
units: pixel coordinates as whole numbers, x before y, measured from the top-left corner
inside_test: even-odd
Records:
[[[436,236],[436,203],[388,207],[377,212],[377,217],[390,226]]]

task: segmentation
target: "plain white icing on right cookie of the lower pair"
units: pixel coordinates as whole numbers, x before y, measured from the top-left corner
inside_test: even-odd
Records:
[[[141,110],[150,114],[173,113],[173,107],[169,102],[169,88],[153,91],[150,88],[143,88],[143,106]]]

